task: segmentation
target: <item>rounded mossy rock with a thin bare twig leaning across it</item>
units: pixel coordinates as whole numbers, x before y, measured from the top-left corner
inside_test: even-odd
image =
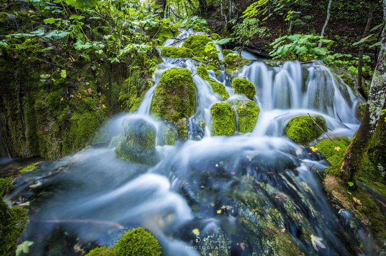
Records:
[[[320,115],[312,116],[312,119],[327,132],[327,123],[325,118]],[[285,135],[296,142],[308,142],[320,137],[323,132],[314,124],[308,116],[294,117],[285,125]]]

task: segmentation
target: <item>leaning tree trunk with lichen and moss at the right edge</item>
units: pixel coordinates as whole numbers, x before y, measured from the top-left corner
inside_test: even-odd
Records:
[[[386,13],[386,0],[383,0]],[[385,16],[385,14],[384,14]],[[366,158],[371,138],[381,117],[386,98],[386,31],[383,30],[382,46],[375,67],[371,88],[368,95],[365,114],[355,138],[347,148],[342,163],[342,179],[355,181]],[[383,121],[383,120],[381,120]]]

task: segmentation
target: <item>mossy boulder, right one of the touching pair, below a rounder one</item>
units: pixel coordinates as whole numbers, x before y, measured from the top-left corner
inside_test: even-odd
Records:
[[[260,108],[252,100],[233,99],[229,103],[236,109],[237,126],[240,133],[251,133],[259,119]]]

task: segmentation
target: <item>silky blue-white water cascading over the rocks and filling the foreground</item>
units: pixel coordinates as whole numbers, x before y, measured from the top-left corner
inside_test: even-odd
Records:
[[[160,141],[160,122],[149,111],[162,72],[184,67],[194,75],[199,64],[165,59],[138,112],[106,125],[110,137],[143,119],[155,126]],[[229,85],[224,72],[217,78],[214,72],[209,75]],[[174,146],[157,142],[161,160],[155,166],[115,157],[116,144],[111,143],[68,157],[73,164],[56,175],[45,177],[67,167],[68,160],[41,164],[19,178],[5,199],[18,201],[21,195],[29,201],[31,221],[22,236],[34,242],[28,255],[48,255],[53,244],[64,241],[64,255],[82,255],[81,245],[111,246],[122,229],[138,226],[156,236],[166,256],[283,255],[294,248],[306,255],[354,254],[355,239],[346,232],[344,215],[328,201],[319,175],[305,165],[325,168],[326,163],[285,138],[284,126],[294,116],[320,114],[332,129],[329,133],[351,136],[359,126],[353,113],[360,99],[317,62],[270,67],[255,61],[237,76],[257,89],[261,114],[252,133],[211,137],[210,107],[221,100],[194,75],[197,104],[189,118],[189,139]],[[244,98],[226,89],[231,98]]]

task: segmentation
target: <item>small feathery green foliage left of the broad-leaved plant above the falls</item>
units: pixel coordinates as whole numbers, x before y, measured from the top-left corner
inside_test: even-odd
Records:
[[[237,23],[233,26],[232,36],[235,39],[243,41],[246,45],[249,45],[249,42],[254,37],[264,37],[268,36],[267,28],[262,26],[260,20],[256,18],[244,19],[242,23]]]

